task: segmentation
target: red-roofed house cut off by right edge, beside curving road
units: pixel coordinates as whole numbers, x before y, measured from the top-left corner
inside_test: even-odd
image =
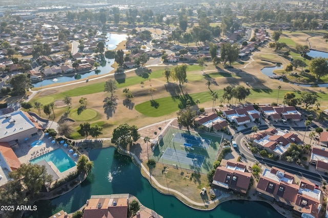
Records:
[[[317,171],[328,173],[328,149],[313,146],[310,163],[316,166]]]

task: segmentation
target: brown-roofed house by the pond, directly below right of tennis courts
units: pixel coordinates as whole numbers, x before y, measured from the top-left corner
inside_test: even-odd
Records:
[[[226,166],[218,166],[216,168],[212,184],[221,188],[246,193],[251,177],[252,174],[246,171],[245,164],[228,161]]]

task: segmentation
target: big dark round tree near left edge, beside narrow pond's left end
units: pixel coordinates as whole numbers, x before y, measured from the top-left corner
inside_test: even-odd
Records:
[[[26,90],[31,87],[31,79],[27,74],[17,74],[10,79],[9,83],[12,86],[12,95],[25,94]]]

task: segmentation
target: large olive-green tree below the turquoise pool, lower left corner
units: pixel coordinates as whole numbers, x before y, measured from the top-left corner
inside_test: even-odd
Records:
[[[46,183],[52,181],[52,176],[47,174],[46,166],[23,163],[15,171],[8,174],[10,179],[18,181],[22,190],[28,191],[30,199],[34,199]]]

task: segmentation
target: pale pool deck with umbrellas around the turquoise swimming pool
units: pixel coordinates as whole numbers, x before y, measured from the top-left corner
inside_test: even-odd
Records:
[[[43,140],[43,143],[40,144],[40,146],[32,147],[31,143],[36,140]],[[44,135],[35,136],[23,143],[20,143],[19,147],[14,149],[14,152],[21,163],[29,163],[31,159],[34,159],[48,152],[61,148],[75,163],[77,162],[78,156],[73,157],[73,153],[69,153],[70,149],[68,147],[65,148],[63,145],[57,142],[51,143],[52,140],[53,138],[50,138],[49,136],[44,136]],[[60,171],[51,161],[48,162],[48,164],[51,166],[53,171],[58,175],[59,179],[65,178],[68,174],[76,170],[76,166],[73,166],[72,168],[67,169],[67,171],[60,173]]]

